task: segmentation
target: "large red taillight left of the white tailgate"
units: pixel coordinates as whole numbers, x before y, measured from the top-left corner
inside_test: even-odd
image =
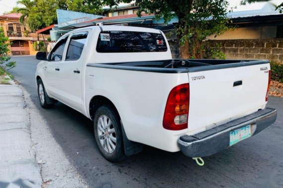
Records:
[[[181,84],[171,90],[163,117],[165,129],[176,131],[188,128],[189,100],[189,84]]]

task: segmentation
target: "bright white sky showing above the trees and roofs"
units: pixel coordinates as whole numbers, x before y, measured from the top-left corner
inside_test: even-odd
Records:
[[[237,6],[236,9],[233,9],[233,11],[242,11],[242,10],[256,10],[260,9],[261,5],[260,3],[246,5],[246,6],[239,6],[240,0],[229,0],[230,6]],[[282,0],[271,0],[275,4],[280,4]],[[0,0],[0,15],[2,15],[4,12],[8,12],[12,10],[14,6],[17,5],[17,0]]]

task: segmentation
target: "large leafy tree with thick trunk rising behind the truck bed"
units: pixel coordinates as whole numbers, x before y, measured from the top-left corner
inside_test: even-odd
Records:
[[[87,0],[88,3],[97,0]],[[116,6],[131,0],[103,0],[106,5]],[[177,39],[180,44],[181,58],[201,58],[203,40],[210,35],[219,35],[227,30],[226,16],[228,0],[136,0],[135,4],[141,12],[154,14],[156,19],[164,18],[168,22],[178,16],[175,25]]]

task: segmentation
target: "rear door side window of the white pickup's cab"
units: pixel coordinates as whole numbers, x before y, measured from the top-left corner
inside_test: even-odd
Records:
[[[85,45],[87,34],[87,32],[81,32],[71,36],[66,61],[73,61],[80,58],[83,47]]]

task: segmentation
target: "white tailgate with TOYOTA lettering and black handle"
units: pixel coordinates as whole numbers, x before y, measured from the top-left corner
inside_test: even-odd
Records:
[[[190,69],[188,135],[265,108],[270,64]]]

